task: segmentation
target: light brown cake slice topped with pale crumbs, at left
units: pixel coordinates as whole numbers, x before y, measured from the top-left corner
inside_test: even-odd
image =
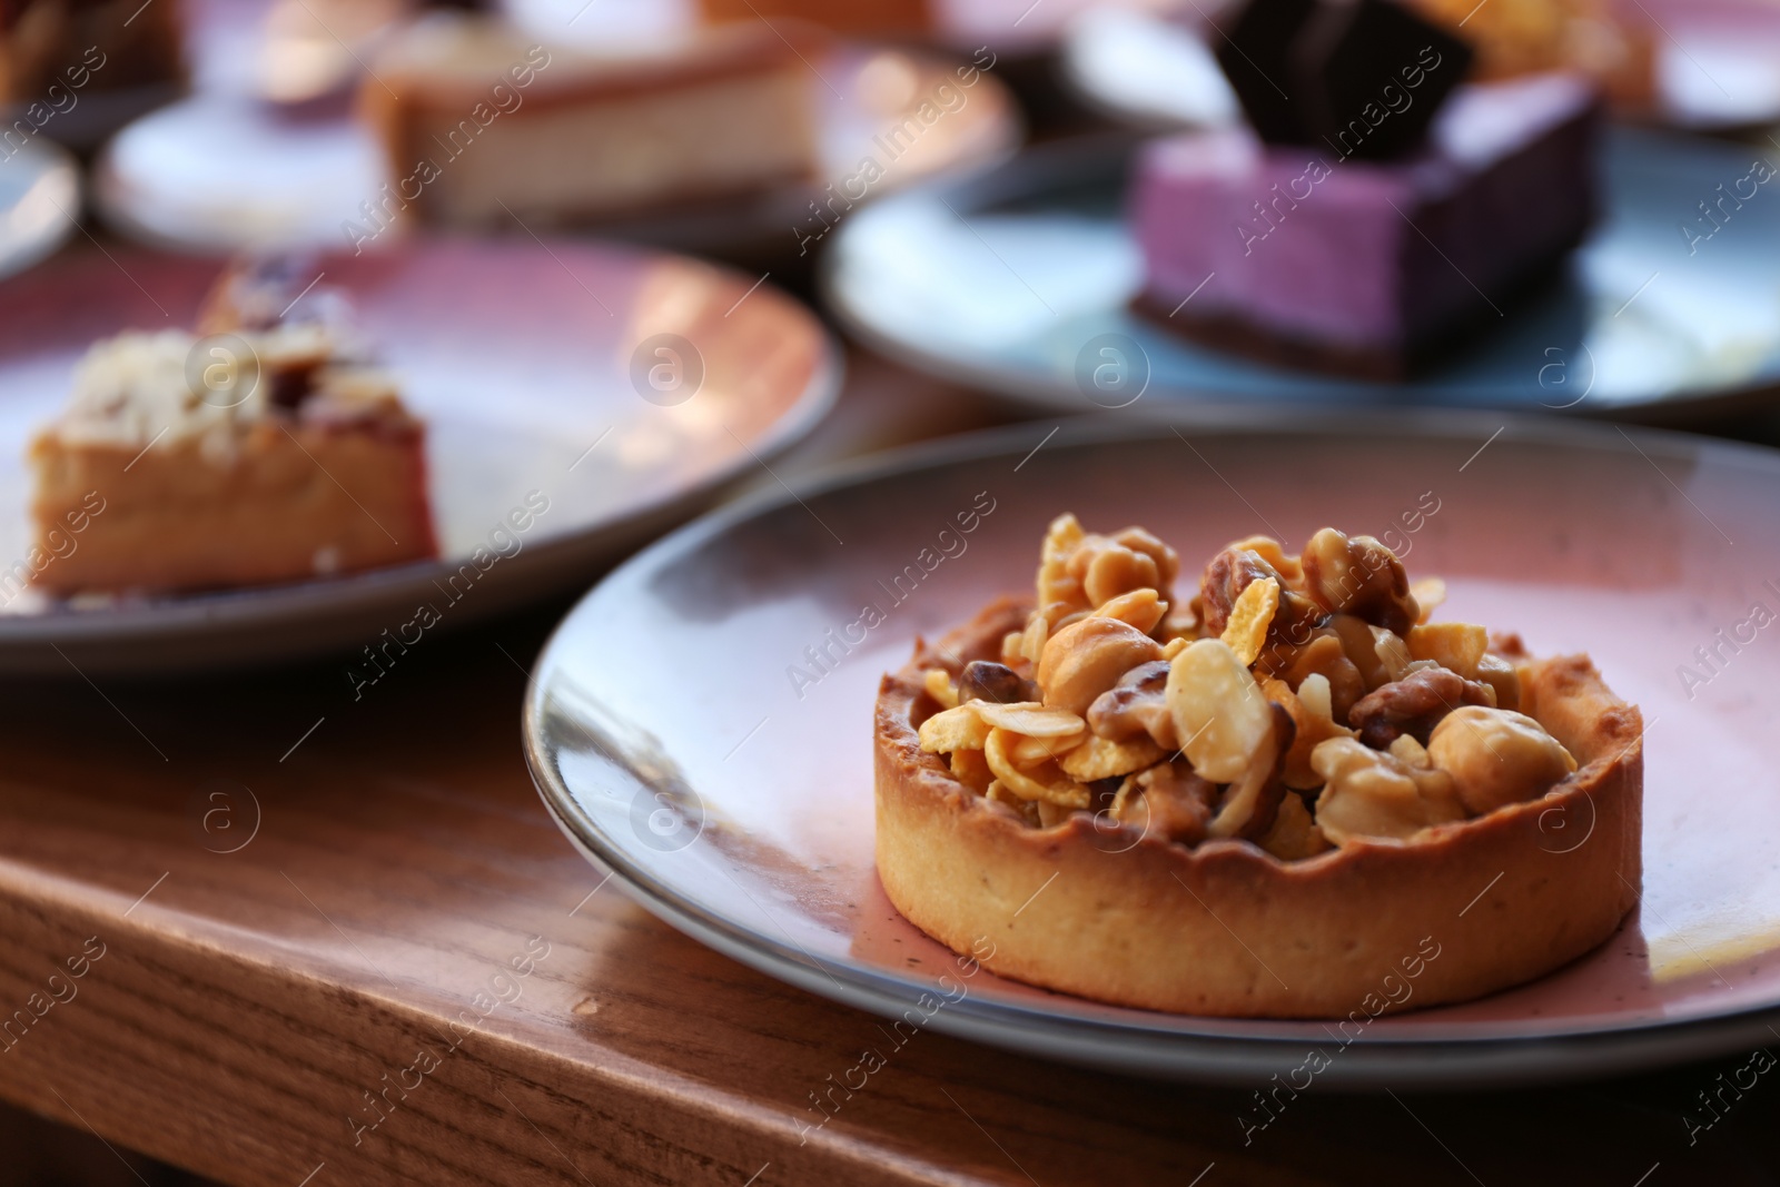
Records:
[[[425,429],[292,260],[224,272],[196,331],[128,331],[30,445],[52,594],[303,580],[436,553]],[[94,511],[98,507],[98,511]],[[55,541],[75,523],[80,546]]]

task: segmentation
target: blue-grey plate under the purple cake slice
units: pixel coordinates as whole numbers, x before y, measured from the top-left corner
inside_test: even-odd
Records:
[[[1132,148],[1038,149],[858,212],[824,260],[829,306],[895,358],[1070,411],[1253,400],[1680,415],[1780,383],[1780,203],[1746,203],[1693,254],[1677,231],[1750,171],[1753,149],[1613,132],[1607,208],[1565,279],[1426,375],[1376,384],[1223,354],[1130,313],[1143,283],[1120,214]],[[1109,359],[1123,370],[1096,388]]]

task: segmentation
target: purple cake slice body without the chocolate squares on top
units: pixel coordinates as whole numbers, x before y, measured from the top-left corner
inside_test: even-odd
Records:
[[[1349,141],[1388,119],[1303,146],[1241,126],[1146,146],[1141,308],[1223,349],[1399,379],[1582,242],[1598,133],[1582,78],[1461,85],[1413,153],[1355,158]]]

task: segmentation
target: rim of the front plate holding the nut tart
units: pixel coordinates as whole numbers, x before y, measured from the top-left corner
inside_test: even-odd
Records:
[[[1317,409],[1298,418],[1287,431],[1307,436],[1321,429],[1319,422],[1390,422],[1404,436],[1420,440],[1463,440],[1460,429],[1476,422],[1481,436],[1485,424],[1499,425],[1501,436],[1531,445],[1597,445],[1609,447],[1613,432],[1607,425],[1586,420],[1552,416],[1506,415],[1472,409],[1412,409],[1408,413],[1385,409]],[[1267,413],[1237,406],[1193,406],[1173,418],[1178,427],[1194,432],[1212,431],[1228,436],[1280,434],[1278,424],[1269,424]],[[676,931],[692,936],[732,959],[817,997],[842,1002],[878,1014],[895,1014],[927,991],[920,982],[902,979],[876,966],[847,961],[817,961],[760,929],[726,920],[696,902],[678,895],[671,884],[657,879],[630,860],[627,847],[607,844],[607,833],[582,810],[562,781],[548,739],[545,735],[546,680],[557,666],[557,655],[570,623],[591,614],[595,598],[630,578],[646,575],[662,559],[685,552],[721,536],[737,523],[792,505],[794,500],[819,497],[833,489],[865,486],[888,475],[926,466],[956,464],[959,461],[1011,456],[1024,450],[1031,434],[1043,422],[1002,425],[933,441],[906,445],[865,457],[828,466],[803,482],[797,493],[760,489],[749,497],[717,507],[659,541],[639,550],[616,566],[598,585],[589,589],[568,610],[545,641],[525,685],[520,714],[520,739],[527,771],[538,788],[550,819],[570,838],[577,852],[596,868],[618,877],[625,892],[651,915]],[[1153,432],[1152,422],[1118,424],[1105,416],[1066,418],[1057,429],[1070,429],[1068,443],[1112,443],[1136,440]],[[1360,425],[1369,429],[1376,425]],[[1025,438],[1022,440],[1022,434]],[[1780,450],[1746,441],[1728,441],[1670,429],[1639,429],[1634,445],[1646,456],[1702,457],[1719,454],[1736,457],[1755,470],[1780,475]],[[1047,438],[1048,440],[1048,438]],[[1018,445],[1016,445],[1018,441]],[[1652,448],[1655,447],[1655,448]],[[644,787],[627,765],[612,763],[618,774]],[[1616,933],[1618,934],[1618,933]],[[1611,943],[1611,940],[1609,940]],[[837,981],[840,977],[840,981]],[[1143,1013],[1143,1011],[1139,1011]],[[1157,1013],[1159,1018],[1193,1018],[1191,1014]],[[1273,1020],[1250,1020],[1266,1025]],[[1769,1005],[1755,1005],[1689,1020],[1650,1018],[1625,1025],[1593,1025],[1547,1034],[1481,1034],[1454,1036],[1385,1036],[1365,1038],[1344,1046],[1349,1052],[1337,1059],[1319,1077],[1340,1089],[1376,1091],[1385,1087],[1479,1087],[1527,1082],[1579,1080],[1597,1075],[1636,1071],[1657,1064],[1703,1059],[1716,1054],[1743,1050],[1771,1034],[1771,1023],[1780,1021],[1780,998]],[[1251,1084],[1280,1071],[1287,1052],[1301,1052],[1301,1036],[1260,1034],[1194,1034],[1178,1030],[1143,1029],[1116,1020],[1068,1018],[1038,1007],[1007,1002],[959,1000],[954,1009],[940,1009],[924,1025],[979,1043],[1007,1050],[1048,1055],[1064,1062],[1093,1066],[1109,1071],[1127,1071],[1153,1078],[1194,1080],[1209,1084]],[[1499,1023],[1502,1027],[1509,1023]],[[1312,1043],[1314,1045],[1314,1043]]]

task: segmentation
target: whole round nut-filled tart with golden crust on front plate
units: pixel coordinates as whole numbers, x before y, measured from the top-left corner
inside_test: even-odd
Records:
[[[1396,1009],[1404,975],[1474,998],[1614,933],[1641,717],[1588,657],[1433,621],[1438,580],[1335,529],[1235,541],[1185,602],[1177,571],[1064,514],[1034,600],[885,676],[878,872],[917,927],[1050,989],[1260,1018]]]

